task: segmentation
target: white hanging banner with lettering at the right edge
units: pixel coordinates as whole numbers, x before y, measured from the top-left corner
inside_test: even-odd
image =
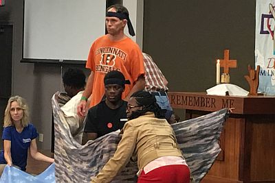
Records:
[[[259,92],[275,95],[275,1],[256,0],[255,68],[260,66]]]

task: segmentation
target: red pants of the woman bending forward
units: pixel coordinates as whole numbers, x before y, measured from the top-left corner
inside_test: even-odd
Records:
[[[140,174],[137,179],[137,183],[189,183],[190,182],[190,172],[186,165],[184,164],[173,164],[166,165],[164,167],[159,167],[148,173]]]

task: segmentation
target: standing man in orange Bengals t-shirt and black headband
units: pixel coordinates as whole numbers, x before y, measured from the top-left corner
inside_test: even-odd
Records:
[[[91,94],[89,107],[98,104],[104,95],[103,79],[109,71],[120,71],[131,84],[125,86],[122,99],[127,101],[132,93],[143,90],[144,61],[138,45],[124,34],[126,24],[129,33],[134,36],[129,12],[123,5],[111,5],[107,8],[105,24],[108,34],[98,38],[89,51],[86,67],[91,69],[83,98],[78,105],[78,114],[85,115],[87,98]]]

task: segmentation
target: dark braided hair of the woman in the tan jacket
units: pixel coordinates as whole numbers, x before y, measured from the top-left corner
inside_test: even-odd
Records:
[[[155,117],[157,118],[165,118],[162,109],[156,103],[156,99],[153,95],[151,95],[151,93],[148,93],[145,90],[140,90],[133,93],[131,97],[135,98],[138,106],[142,106],[142,110],[132,112],[130,119],[140,117],[144,115],[146,112],[153,112],[155,114]]]

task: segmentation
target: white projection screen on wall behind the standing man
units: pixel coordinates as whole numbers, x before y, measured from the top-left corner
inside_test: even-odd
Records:
[[[23,61],[85,62],[105,33],[105,9],[103,0],[25,0]]]

